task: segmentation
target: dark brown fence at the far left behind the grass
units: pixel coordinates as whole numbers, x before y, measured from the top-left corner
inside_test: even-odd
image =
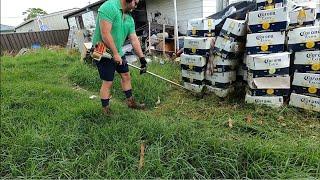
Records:
[[[3,51],[19,51],[22,48],[30,48],[32,44],[66,46],[69,30],[53,30],[41,32],[0,34],[0,47]]]

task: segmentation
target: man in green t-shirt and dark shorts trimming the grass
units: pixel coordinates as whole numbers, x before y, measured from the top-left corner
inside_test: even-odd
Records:
[[[103,43],[112,57],[102,57],[96,61],[102,85],[100,88],[101,104],[104,113],[109,114],[109,99],[114,73],[121,76],[121,86],[129,108],[142,109],[143,104],[134,101],[132,96],[131,76],[126,63],[122,46],[128,37],[141,63],[140,74],[146,72],[147,62],[141,50],[140,41],[135,33],[135,24],[130,12],[134,10],[139,0],[108,0],[98,9],[96,30],[92,44]]]

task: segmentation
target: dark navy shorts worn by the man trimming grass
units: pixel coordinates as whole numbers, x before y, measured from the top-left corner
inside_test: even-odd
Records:
[[[113,81],[114,79],[114,72],[117,71],[118,73],[127,73],[129,72],[128,63],[125,57],[122,57],[122,65],[117,64],[114,62],[113,59],[109,58],[101,58],[100,61],[94,60],[100,75],[100,79],[104,81]]]

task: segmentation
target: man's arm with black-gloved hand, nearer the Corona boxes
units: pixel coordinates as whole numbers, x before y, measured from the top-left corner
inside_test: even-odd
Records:
[[[129,40],[132,44],[134,51],[136,52],[136,54],[138,55],[138,57],[140,59],[140,64],[141,64],[140,74],[146,73],[147,72],[147,61],[146,61],[144,54],[142,52],[141,44],[140,44],[140,41],[139,41],[136,33],[130,34]]]

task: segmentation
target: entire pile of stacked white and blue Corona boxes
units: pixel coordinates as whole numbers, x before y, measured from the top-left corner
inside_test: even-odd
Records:
[[[184,86],[227,97],[243,84],[247,103],[289,102],[320,112],[319,6],[256,0],[189,20],[180,61]]]

